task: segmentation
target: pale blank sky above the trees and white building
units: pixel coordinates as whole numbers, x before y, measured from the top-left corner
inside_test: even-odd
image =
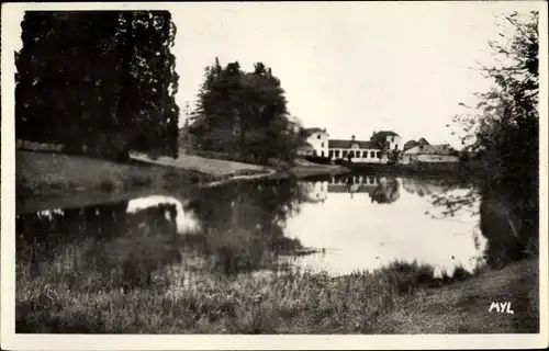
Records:
[[[107,5],[107,4],[105,4]],[[184,120],[219,57],[271,67],[290,114],[330,138],[369,139],[394,131],[405,140],[460,140],[452,116],[467,112],[489,81],[477,63],[493,63],[497,14],[533,2],[190,2],[156,4],[178,27],[176,56]],[[120,5],[119,5],[120,7]],[[23,12],[21,12],[22,19]],[[500,22],[501,23],[501,22]],[[20,26],[16,26],[19,31]]]

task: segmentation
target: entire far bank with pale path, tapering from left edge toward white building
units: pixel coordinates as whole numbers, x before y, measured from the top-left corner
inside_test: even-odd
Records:
[[[202,188],[243,180],[302,179],[348,172],[343,167],[295,165],[274,169],[195,156],[188,163],[184,165],[184,158],[183,162],[169,166],[166,160],[157,162],[143,157],[117,163],[86,156],[16,150],[16,213],[169,194],[175,189],[181,195],[190,195]]]

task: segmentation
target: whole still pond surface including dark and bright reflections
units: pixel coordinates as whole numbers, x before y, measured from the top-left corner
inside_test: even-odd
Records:
[[[340,275],[395,260],[430,264],[436,274],[458,265],[473,272],[486,240],[472,190],[448,180],[336,176],[51,208],[18,215],[18,269],[59,279],[78,270],[103,286],[153,284],[175,272]],[[459,196],[473,200],[452,215],[436,204]]]

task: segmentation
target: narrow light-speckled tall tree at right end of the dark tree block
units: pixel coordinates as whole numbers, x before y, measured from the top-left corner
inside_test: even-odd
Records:
[[[128,57],[131,79],[138,87],[136,94],[131,97],[131,104],[139,128],[130,129],[133,135],[127,139],[134,141],[131,146],[136,150],[176,157],[179,107],[175,94],[179,77],[175,71],[175,56],[170,53],[176,35],[171,14],[167,11],[136,12],[131,30],[138,43],[135,54]]]

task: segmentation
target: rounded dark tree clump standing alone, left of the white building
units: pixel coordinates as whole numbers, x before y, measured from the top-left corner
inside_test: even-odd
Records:
[[[257,63],[246,72],[238,61],[222,67],[217,58],[204,69],[189,132],[200,149],[257,163],[292,160],[305,143],[271,68]]]

